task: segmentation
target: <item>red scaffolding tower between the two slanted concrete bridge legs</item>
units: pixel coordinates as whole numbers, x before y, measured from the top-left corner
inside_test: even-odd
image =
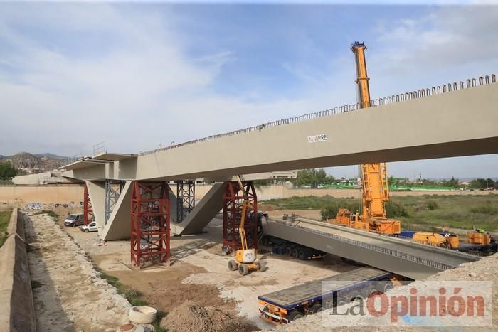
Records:
[[[169,265],[169,186],[166,181],[134,181],[132,193],[132,265]]]

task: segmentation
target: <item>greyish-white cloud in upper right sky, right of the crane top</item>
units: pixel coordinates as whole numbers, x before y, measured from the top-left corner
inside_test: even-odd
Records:
[[[416,20],[382,25],[378,41],[383,52],[376,64],[393,75],[489,73],[475,72],[498,65],[497,20],[498,6],[443,6]]]

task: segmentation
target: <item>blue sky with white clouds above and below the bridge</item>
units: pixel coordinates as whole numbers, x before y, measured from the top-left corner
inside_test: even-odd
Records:
[[[273,2],[2,2],[0,154],[137,153],[354,103],[354,41],[369,47],[373,98],[497,72],[489,1]],[[496,177],[498,155],[388,170]]]

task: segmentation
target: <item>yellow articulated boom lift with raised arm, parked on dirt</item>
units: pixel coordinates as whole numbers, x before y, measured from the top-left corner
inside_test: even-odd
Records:
[[[242,181],[240,181],[239,176],[237,177],[237,180],[244,196],[242,213],[240,215],[240,225],[238,226],[238,233],[240,235],[242,249],[235,252],[235,260],[231,259],[230,261],[228,261],[228,269],[230,269],[231,271],[238,270],[240,274],[245,276],[251,271],[260,271],[261,265],[259,262],[256,262],[256,259],[258,259],[258,254],[255,248],[248,248],[248,240],[245,236],[244,225],[245,218],[247,217],[252,206],[250,204],[250,201],[248,200],[247,193],[245,193],[244,186],[242,185]]]

